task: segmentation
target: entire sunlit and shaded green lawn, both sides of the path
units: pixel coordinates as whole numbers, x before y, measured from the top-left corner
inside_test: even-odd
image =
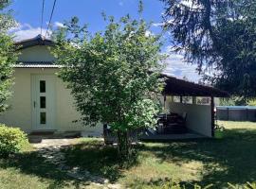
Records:
[[[256,180],[256,123],[219,122],[219,139],[143,143],[131,163],[120,163],[112,146],[81,139],[64,150],[68,165],[130,188],[161,188],[164,180],[227,187]],[[122,164],[120,166],[120,164]],[[72,180],[27,149],[18,158],[0,161],[0,188],[83,188],[89,180]]]

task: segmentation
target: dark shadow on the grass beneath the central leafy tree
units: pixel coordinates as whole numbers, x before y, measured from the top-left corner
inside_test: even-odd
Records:
[[[64,149],[67,165],[88,170],[95,176],[100,176],[115,182],[122,177],[122,170],[137,165],[137,152],[129,161],[118,158],[116,147],[104,146],[103,142],[92,140]]]

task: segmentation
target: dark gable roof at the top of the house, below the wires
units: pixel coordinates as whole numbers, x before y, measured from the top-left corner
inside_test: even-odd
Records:
[[[27,47],[35,46],[35,45],[53,45],[54,43],[51,40],[46,39],[42,35],[38,35],[35,38],[23,40],[15,43],[18,46],[18,50],[24,49]]]

